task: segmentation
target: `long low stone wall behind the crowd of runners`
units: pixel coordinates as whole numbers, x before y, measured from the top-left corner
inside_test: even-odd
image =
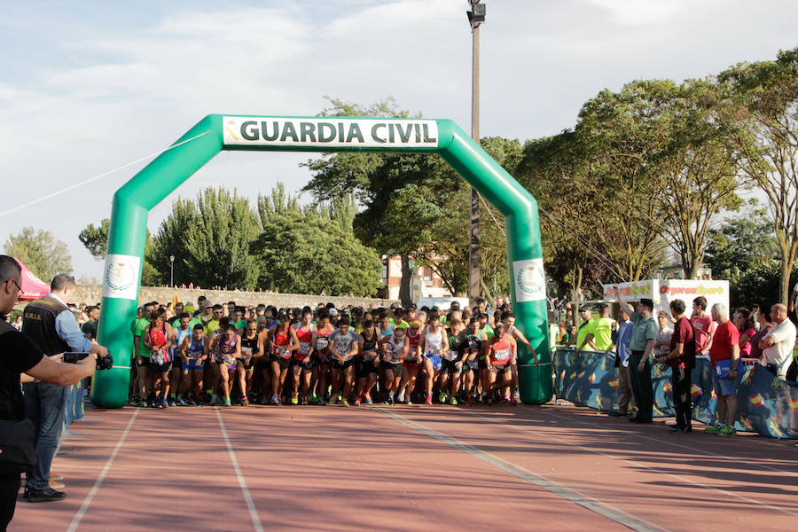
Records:
[[[197,298],[204,295],[214,303],[226,303],[227,301],[236,301],[237,305],[248,306],[258,305],[264,303],[266,305],[274,305],[278,309],[289,307],[316,307],[318,303],[327,303],[332,301],[338,308],[353,305],[356,307],[368,308],[373,305],[390,306],[393,300],[383,300],[370,297],[331,297],[327,295],[307,295],[301,293],[270,293],[270,292],[241,292],[239,290],[189,290],[188,288],[163,288],[157,286],[142,286],[138,291],[139,305],[146,301],[159,301],[161,303],[168,303],[177,292],[177,298],[184,303],[191,302],[192,305],[197,305]],[[94,305],[98,301],[102,301],[102,286],[100,285],[83,285],[77,287],[77,293],[74,296],[74,303],[86,303],[87,305]]]

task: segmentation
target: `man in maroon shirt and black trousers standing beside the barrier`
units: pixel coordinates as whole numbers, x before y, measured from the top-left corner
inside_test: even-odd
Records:
[[[690,374],[695,367],[695,335],[690,320],[685,317],[686,307],[685,301],[670,301],[670,312],[676,324],[670,337],[668,352],[657,357],[657,362],[668,364],[671,370],[670,384],[673,387],[677,424],[669,430],[675,434],[692,433]]]

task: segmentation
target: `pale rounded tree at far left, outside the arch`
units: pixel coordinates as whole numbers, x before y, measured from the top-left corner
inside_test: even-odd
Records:
[[[59,273],[72,272],[72,257],[66,244],[50,231],[24,227],[5,241],[5,254],[16,257],[37,278],[50,283]]]

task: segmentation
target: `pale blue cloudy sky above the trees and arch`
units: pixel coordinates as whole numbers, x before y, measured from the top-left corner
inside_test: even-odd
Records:
[[[796,44],[798,3],[489,0],[481,133],[527,139],[575,123],[583,102],[638,78],[682,80]],[[167,147],[207,113],[313,115],[325,96],[388,96],[470,121],[465,0],[12,2],[0,0],[0,212]],[[308,181],[295,153],[222,153],[155,207],[223,184],[256,198]],[[110,215],[144,163],[0,222],[69,246],[78,277],[102,266],[77,239]],[[166,267],[166,266],[165,266]]]

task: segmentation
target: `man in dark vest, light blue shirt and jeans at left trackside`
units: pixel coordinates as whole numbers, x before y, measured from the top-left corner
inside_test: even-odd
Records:
[[[65,351],[96,353],[105,356],[106,348],[93,343],[81,332],[66,303],[74,294],[74,277],[59,274],[52,279],[51,293],[25,307],[22,332],[47,356]],[[25,410],[35,426],[36,465],[27,472],[27,501],[41,503],[66,497],[50,487],[50,466],[64,430],[66,387],[50,382],[27,382]]]

